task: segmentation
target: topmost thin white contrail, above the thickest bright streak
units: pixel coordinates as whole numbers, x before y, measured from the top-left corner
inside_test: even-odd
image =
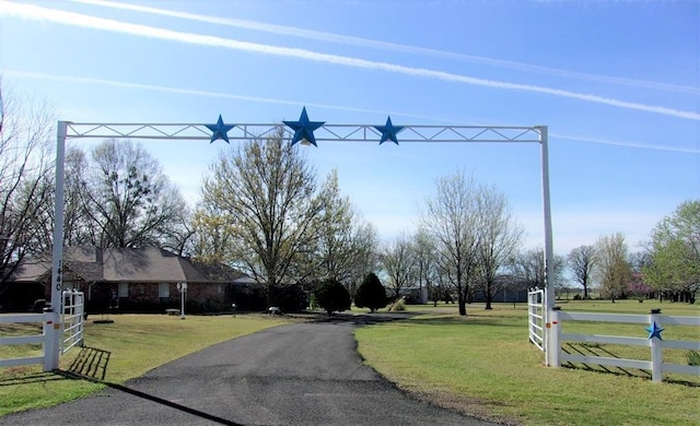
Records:
[[[92,5],[103,7],[103,8],[129,10],[129,11],[150,13],[150,14],[155,14],[161,16],[171,16],[171,17],[184,19],[189,21],[206,22],[209,24],[233,26],[237,28],[253,29],[253,31],[259,31],[259,32],[266,32],[266,33],[272,33],[272,34],[281,34],[281,35],[307,38],[313,40],[360,46],[360,47],[381,49],[381,50],[401,51],[401,52],[413,54],[413,55],[424,55],[424,56],[432,56],[438,58],[454,59],[454,60],[469,61],[469,62],[477,62],[477,63],[486,63],[489,66],[516,69],[521,71],[528,71],[528,72],[546,74],[546,75],[557,75],[557,76],[581,79],[581,80],[587,80],[587,81],[598,81],[604,83],[623,84],[623,85],[662,90],[662,91],[668,91],[668,92],[700,94],[700,86],[693,87],[693,86],[685,86],[685,85],[678,85],[678,84],[652,82],[652,81],[645,81],[645,80],[625,79],[625,78],[617,78],[617,76],[610,76],[610,75],[600,75],[600,74],[593,74],[593,73],[586,73],[586,72],[561,70],[557,68],[551,68],[551,67],[534,66],[530,63],[493,59],[493,58],[487,58],[487,57],[475,56],[475,55],[456,54],[452,51],[444,51],[444,50],[430,49],[430,48],[423,48],[418,46],[381,42],[381,40],[369,39],[363,37],[347,36],[342,34],[326,33],[326,32],[299,28],[293,26],[266,24],[266,23],[256,22],[256,21],[247,21],[247,20],[232,19],[232,17],[200,15],[200,14],[195,14],[189,12],[172,11],[166,9],[151,8],[145,5],[129,4],[129,3],[118,3],[115,1],[107,1],[107,0],[70,0],[70,1],[77,2],[77,3],[92,4]]]

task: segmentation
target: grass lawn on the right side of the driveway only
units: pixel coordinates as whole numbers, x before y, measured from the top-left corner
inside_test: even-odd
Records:
[[[661,307],[665,315],[700,313],[698,306],[637,300],[560,305],[572,311],[649,313],[650,308]],[[427,315],[359,329],[358,347],[368,364],[400,388],[488,418],[526,425],[700,424],[698,377],[674,376],[672,382],[653,383],[641,371],[544,367],[542,353],[527,341],[526,305],[494,308],[469,305],[468,316],[459,317],[454,305],[409,306],[409,311]],[[568,331],[588,332],[595,327],[599,324],[576,324]],[[602,334],[648,334],[642,324],[604,327]],[[699,340],[695,328],[667,329],[667,339]],[[684,356],[679,353],[674,362],[685,364]]]

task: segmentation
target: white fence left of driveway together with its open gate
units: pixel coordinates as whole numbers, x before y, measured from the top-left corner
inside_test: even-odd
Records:
[[[54,312],[44,313],[4,313],[0,315],[0,324],[8,323],[42,323],[42,333],[28,335],[0,336],[0,346],[5,345],[27,345],[40,344],[40,354],[18,358],[0,358],[0,368],[22,365],[42,364],[44,371],[51,370],[50,340],[57,328],[61,333],[61,347],[59,351],[66,353],[75,345],[83,342],[83,312],[84,295],[81,292],[63,292],[63,313],[61,324],[54,323]],[[56,346],[56,345],[54,345]],[[57,355],[55,355],[57,356]]]

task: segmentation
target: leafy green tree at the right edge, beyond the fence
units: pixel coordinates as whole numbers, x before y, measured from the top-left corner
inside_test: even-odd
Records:
[[[644,282],[688,301],[700,287],[700,199],[682,202],[652,232]]]

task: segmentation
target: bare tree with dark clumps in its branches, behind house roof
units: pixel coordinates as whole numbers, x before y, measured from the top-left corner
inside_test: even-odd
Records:
[[[93,150],[90,167],[81,176],[67,189],[79,190],[81,213],[88,217],[95,246],[164,246],[168,239],[172,242],[173,229],[187,222],[179,191],[138,143],[104,141]]]

